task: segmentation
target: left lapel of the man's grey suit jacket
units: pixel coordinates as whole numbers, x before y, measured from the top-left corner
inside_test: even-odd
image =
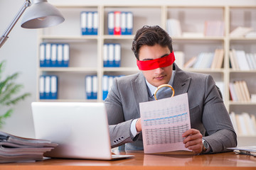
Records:
[[[131,81],[131,84],[134,93],[134,100],[139,113],[139,103],[149,101],[149,94],[147,91],[145,78],[142,72],[139,73],[137,79]]]

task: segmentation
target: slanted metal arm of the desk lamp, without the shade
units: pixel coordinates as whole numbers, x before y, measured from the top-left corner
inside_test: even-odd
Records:
[[[31,1],[30,0],[26,0],[25,1],[23,6],[21,7],[20,11],[18,11],[18,13],[14,17],[13,21],[11,21],[10,25],[7,27],[7,29],[4,32],[4,34],[0,37],[0,48],[1,48],[2,45],[4,45],[4,42],[6,42],[6,40],[8,39],[8,35],[11,32],[12,28],[14,28],[14,26],[17,23],[18,19],[21,18],[21,15],[26,10],[26,8],[28,8],[28,6],[31,6]]]

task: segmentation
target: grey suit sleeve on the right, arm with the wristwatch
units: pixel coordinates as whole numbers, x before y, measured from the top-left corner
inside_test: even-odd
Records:
[[[205,89],[202,121],[208,136],[203,138],[213,153],[230,151],[226,148],[237,145],[237,136],[213,77],[206,78]]]

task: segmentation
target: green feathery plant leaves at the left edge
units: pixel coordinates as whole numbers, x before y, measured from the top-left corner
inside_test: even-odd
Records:
[[[0,128],[4,125],[4,120],[14,112],[14,105],[30,96],[29,93],[18,95],[23,88],[21,84],[15,83],[18,72],[3,78],[5,63],[6,61],[0,63]]]

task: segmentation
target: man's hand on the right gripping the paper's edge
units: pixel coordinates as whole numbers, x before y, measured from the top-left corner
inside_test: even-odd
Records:
[[[199,130],[190,129],[183,133],[182,137],[186,137],[183,140],[185,147],[192,150],[195,154],[200,154],[203,150],[202,137],[203,135]]]

